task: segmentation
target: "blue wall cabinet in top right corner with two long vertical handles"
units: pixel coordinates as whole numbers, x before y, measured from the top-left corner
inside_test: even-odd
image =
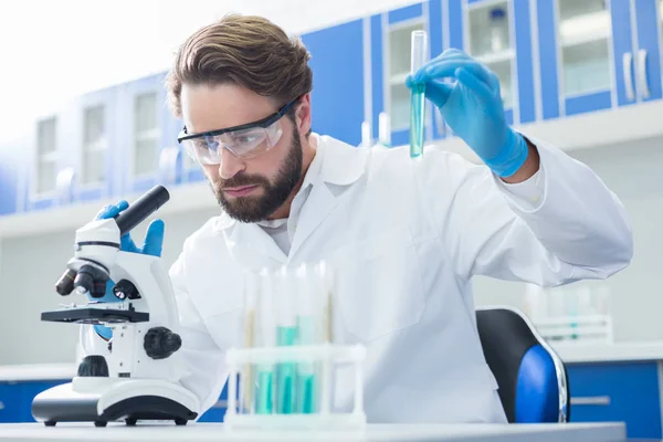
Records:
[[[543,118],[661,98],[656,0],[538,0]]]

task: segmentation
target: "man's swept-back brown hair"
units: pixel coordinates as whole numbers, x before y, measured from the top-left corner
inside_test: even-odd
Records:
[[[228,14],[180,46],[166,77],[168,102],[181,117],[183,84],[231,82],[284,105],[312,91],[309,59],[298,38],[288,38],[267,19]]]

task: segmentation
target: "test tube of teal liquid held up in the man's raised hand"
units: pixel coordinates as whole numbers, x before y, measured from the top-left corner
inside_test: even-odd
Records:
[[[428,42],[425,31],[412,31],[412,56],[410,73],[414,75],[427,61]],[[410,96],[410,158],[423,155],[425,123],[425,83],[414,83]]]

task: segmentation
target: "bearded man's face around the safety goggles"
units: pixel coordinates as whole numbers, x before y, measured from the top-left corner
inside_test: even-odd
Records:
[[[182,118],[190,134],[253,123],[274,114],[285,103],[234,84],[185,85]],[[222,149],[221,164],[203,165],[217,200],[242,222],[267,219],[288,198],[302,177],[302,143],[292,120],[280,119],[283,134],[274,147],[249,159]]]

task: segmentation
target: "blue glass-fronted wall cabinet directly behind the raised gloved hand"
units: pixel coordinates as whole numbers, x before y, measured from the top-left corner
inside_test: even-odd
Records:
[[[391,118],[391,144],[409,140],[410,35],[425,30],[430,57],[455,48],[477,59],[499,78],[507,123],[536,118],[529,0],[430,0],[370,18],[372,133],[378,115]],[[439,110],[427,103],[427,140],[451,135]]]

